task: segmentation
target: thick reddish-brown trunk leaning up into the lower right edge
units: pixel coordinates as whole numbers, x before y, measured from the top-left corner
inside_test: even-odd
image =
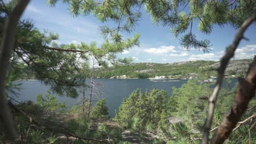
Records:
[[[212,143],[223,143],[228,139],[237,122],[246,112],[249,101],[254,97],[256,89],[256,59],[254,59],[245,79],[238,79],[235,100],[231,110],[219,125]]]

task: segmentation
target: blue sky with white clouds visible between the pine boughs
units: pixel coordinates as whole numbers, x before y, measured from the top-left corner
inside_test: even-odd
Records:
[[[44,0],[32,0],[26,8],[22,19],[29,19],[40,31],[55,32],[60,35],[57,43],[79,44],[82,41],[91,43],[96,41],[98,45],[104,42],[98,27],[109,25],[114,27],[115,23],[101,23],[93,16],[72,16],[68,11],[68,5],[57,3],[55,7],[50,7]],[[186,51],[179,44],[179,39],[174,38],[170,28],[156,26],[152,23],[150,16],[143,13],[142,20],[138,22],[135,30],[125,37],[132,37],[139,32],[139,47],[125,50],[118,57],[132,57],[134,62],[154,62],[154,63],[173,63],[182,61],[211,60],[219,61],[224,55],[225,47],[230,45],[235,37],[237,29],[230,26],[220,28],[214,26],[212,33],[206,35],[197,30],[197,25],[193,26],[193,33],[197,39],[209,39],[212,47],[208,53],[191,49]],[[256,26],[250,26],[245,37],[249,41],[242,40],[237,47],[235,59],[252,58],[256,55]]]

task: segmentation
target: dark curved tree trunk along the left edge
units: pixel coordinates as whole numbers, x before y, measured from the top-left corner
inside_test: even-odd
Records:
[[[13,118],[11,118],[7,100],[5,99],[5,76],[9,67],[10,54],[15,46],[15,36],[17,33],[19,19],[30,0],[20,0],[8,15],[4,22],[4,31],[0,45],[0,118],[4,125],[4,134],[10,140],[15,139]]]

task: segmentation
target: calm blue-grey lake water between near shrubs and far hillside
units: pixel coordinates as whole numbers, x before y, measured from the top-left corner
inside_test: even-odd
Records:
[[[149,79],[95,79],[96,86],[94,87],[95,95],[92,96],[92,103],[95,104],[97,99],[105,98],[109,109],[109,116],[114,117],[115,110],[118,110],[124,98],[129,97],[133,90],[141,88],[144,91],[149,91],[153,88],[164,89],[169,95],[172,93],[172,87],[181,87],[188,80],[149,80]],[[237,79],[231,79],[230,87],[234,87]],[[50,87],[45,86],[39,81],[20,81],[21,91],[18,101],[36,100],[38,93],[45,94]],[[88,93],[86,94],[86,97]],[[60,101],[66,101],[67,105],[78,104],[82,99],[82,94],[78,98],[68,98],[66,96],[57,96]]]

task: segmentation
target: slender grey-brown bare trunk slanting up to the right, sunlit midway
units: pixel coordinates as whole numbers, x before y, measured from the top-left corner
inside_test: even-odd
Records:
[[[243,39],[243,33],[245,33],[246,29],[251,25],[251,23],[255,20],[255,18],[256,18],[256,11],[254,11],[254,13],[250,17],[248,17],[248,19],[246,19],[245,22],[243,22],[240,29],[236,33],[233,43],[226,49],[226,53],[222,57],[222,60],[220,61],[220,68],[218,70],[218,80],[217,80],[216,86],[213,89],[213,93],[212,93],[211,97],[209,98],[208,116],[207,116],[207,119],[205,122],[205,129],[203,131],[204,132],[203,140],[202,140],[203,144],[208,143],[208,136],[209,136],[209,131],[211,129],[212,118],[213,118],[213,114],[214,114],[214,107],[215,107],[215,103],[216,103],[220,88],[222,87],[224,71],[226,69],[226,66],[228,65],[230,59],[234,56],[234,53],[235,53],[235,50],[236,50],[238,44]],[[238,122],[238,119],[237,119],[237,122]],[[225,139],[226,138],[227,137],[225,137]]]

